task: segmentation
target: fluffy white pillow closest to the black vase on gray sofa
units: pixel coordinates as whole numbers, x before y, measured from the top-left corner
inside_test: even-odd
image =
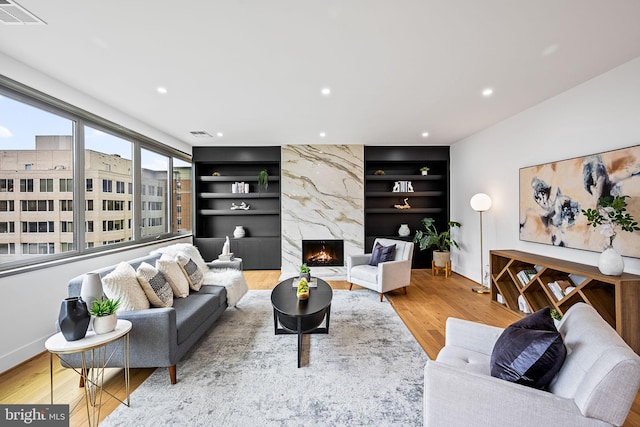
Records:
[[[136,271],[124,261],[102,278],[102,287],[107,298],[120,298],[118,311],[149,308],[149,300],[140,287]]]

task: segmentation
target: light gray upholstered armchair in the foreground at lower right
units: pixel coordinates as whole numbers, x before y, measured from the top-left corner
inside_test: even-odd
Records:
[[[494,378],[501,328],[447,319],[445,346],[424,370],[425,426],[620,426],[640,386],[640,357],[585,303],[558,331],[567,357],[549,391]]]

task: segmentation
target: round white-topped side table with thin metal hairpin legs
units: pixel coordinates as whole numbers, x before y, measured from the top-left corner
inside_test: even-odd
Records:
[[[102,392],[105,391],[111,397],[130,406],[129,402],[129,332],[131,331],[131,322],[128,320],[118,319],[116,328],[106,334],[96,334],[94,331],[87,331],[84,338],[76,341],[67,341],[62,332],[50,337],[45,342],[45,347],[49,351],[49,369],[51,381],[51,404],[53,404],[53,355],[57,354],[60,360],[72,368],[84,379],[84,396],[87,404],[87,417],[89,425],[97,426],[100,421],[100,409],[102,407]],[[127,392],[127,400],[122,401],[111,394],[108,390],[104,390],[104,370],[111,358],[115,355],[119,346],[107,354],[107,344],[115,343],[120,340],[122,344],[122,358],[124,366],[124,381]],[[72,367],[64,360],[65,354],[80,353],[82,359],[81,371]],[[97,398],[97,399],[96,399]],[[97,400],[97,401],[96,401]],[[92,408],[91,410],[89,408]]]

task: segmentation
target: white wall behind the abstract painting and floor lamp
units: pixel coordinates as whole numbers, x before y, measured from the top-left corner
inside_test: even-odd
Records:
[[[597,265],[596,252],[519,240],[519,168],[638,144],[640,58],[454,144],[451,218],[463,224],[458,233],[463,248],[453,253],[454,270],[480,281],[479,214],[469,205],[478,192],[493,200],[483,216],[485,265],[490,249]],[[634,236],[640,244],[640,232]],[[626,272],[640,273],[640,259],[624,261]]]

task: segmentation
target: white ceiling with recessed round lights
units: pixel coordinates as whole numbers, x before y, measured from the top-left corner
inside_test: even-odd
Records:
[[[192,145],[448,145],[640,56],[638,0],[19,3],[0,52]]]

